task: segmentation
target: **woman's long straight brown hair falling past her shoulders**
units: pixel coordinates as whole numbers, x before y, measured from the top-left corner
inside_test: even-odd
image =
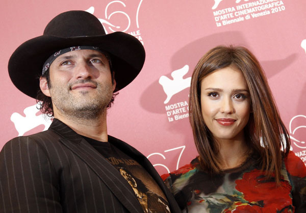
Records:
[[[279,116],[259,61],[242,46],[213,48],[199,60],[192,74],[189,119],[201,168],[213,174],[220,172],[218,146],[214,143],[213,135],[201,113],[200,83],[208,74],[228,66],[235,66],[241,70],[249,88],[252,113],[244,128],[248,146],[259,156],[262,170],[268,175],[275,173],[275,181],[278,184],[281,178],[282,158],[287,156],[290,150],[289,134]]]

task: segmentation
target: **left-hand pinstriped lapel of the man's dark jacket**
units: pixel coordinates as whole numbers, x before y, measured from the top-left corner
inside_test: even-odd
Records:
[[[49,129],[62,136],[61,143],[93,170],[127,210],[143,213],[143,209],[129,183],[82,136],[57,119],[54,119]]]

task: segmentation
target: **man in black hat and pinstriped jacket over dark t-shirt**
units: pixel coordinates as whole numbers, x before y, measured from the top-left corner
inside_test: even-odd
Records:
[[[106,35],[84,11],[59,14],[17,48],[12,82],[54,120],[1,151],[0,212],[180,212],[147,158],[107,134],[113,92],[136,78],[144,58],[136,38]],[[144,184],[145,200],[122,171]]]

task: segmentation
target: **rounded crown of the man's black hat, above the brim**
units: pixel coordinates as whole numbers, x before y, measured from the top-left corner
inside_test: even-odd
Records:
[[[73,10],[61,13],[46,26],[43,35],[62,38],[106,35],[103,25],[86,11]]]

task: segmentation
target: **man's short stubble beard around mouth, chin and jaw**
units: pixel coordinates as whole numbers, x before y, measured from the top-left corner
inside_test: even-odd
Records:
[[[72,84],[66,88],[49,85],[53,105],[68,119],[97,120],[106,113],[107,106],[113,96],[113,85],[96,83],[92,80],[79,80],[73,84],[86,82],[96,85],[95,96],[87,90],[77,91],[72,94],[70,89]]]

